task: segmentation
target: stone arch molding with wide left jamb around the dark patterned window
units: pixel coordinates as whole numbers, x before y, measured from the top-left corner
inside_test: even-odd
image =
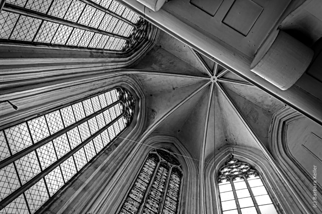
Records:
[[[196,213],[199,206],[198,193],[195,191],[198,164],[190,153],[177,138],[162,134],[151,134],[143,144],[145,145],[123,140],[72,197],[61,205],[61,209],[50,213],[116,213],[136,179],[145,157],[154,147],[168,147],[182,155],[178,155],[184,172],[180,213]],[[68,190],[70,189],[72,188]],[[57,209],[60,206],[59,200],[53,205]],[[49,210],[52,207],[47,209]]]

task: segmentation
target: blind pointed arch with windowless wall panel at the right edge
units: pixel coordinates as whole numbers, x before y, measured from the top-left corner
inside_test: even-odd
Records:
[[[301,127],[304,127],[304,129],[301,130],[308,131],[307,133],[301,131],[300,136],[302,139],[296,138],[296,142],[292,142],[292,136],[288,136],[290,135],[289,131],[291,131],[291,128],[289,127],[294,125],[293,123],[297,127],[297,129],[295,129],[296,132],[298,132],[298,129],[301,129]],[[321,185],[317,181],[318,178],[315,178],[312,172],[314,170],[314,164],[321,165],[321,162],[318,160],[319,157],[315,156],[314,153],[310,154],[310,152],[307,151],[307,144],[302,141],[306,140],[311,144],[319,143],[319,141],[321,142],[321,140],[313,141],[312,138],[309,138],[309,136],[314,135],[312,128],[321,130],[321,127],[318,124],[290,107],[285,107],[276,112],[270,126],[269,150],[280,165],[280,168],[283,169],[283,174],[289,178],[289,182],[294,188],[294,193],[291,195],[293,200],[295,197],[298,197],[304,202],[305,207],[299,208],[305,210],[302,211],[303,213],[321,213],[322,211],[321,207],[314,207],[314,204],[312,204],[314,201],[317,203],[321,203],[322,201],[320,194],[314,195],[314,191],[321,192]],[[289,139],[290,142],[288,142]],[[302,147],[300,145],[302,145]],[[313,152],[318,152],[319,147],[317,147],[316,150],[317,151]],[[298,156],[297,158],[293,156],[294,151],[300,151],[298,154],[305,157],[305,160],[298,158]],[[312,169],[307,169],[302,165],[303,163],[311,164]]]

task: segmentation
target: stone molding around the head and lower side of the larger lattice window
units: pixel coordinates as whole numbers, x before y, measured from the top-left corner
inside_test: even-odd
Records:
[[[127,88],[137,101],[136,106],[138,108],[135,108],[134,112],[134,115],[137,115],[137,117],[133,118],[130,126],[120,135],[120,138],[112,141],[110,146],[101,151],[81,173],[59,190],[52,200],[45,203],[40,208],[40,213],[83,213],[86,209],[92,208],[95,202],[98,202],[96,199],[99,197],[97,195],[99,191],[111,191],[108,185],[112,185],[115,182],[113,175],[123,164],[125,156],[135,146],[129,144],[123,138],[134,140],[139,138],[144,130],[147,115],[146,94],[139,81],[135,77],[129,78],[129,76],[120,76],[118,78],[121,80],[109,81],[106,87],[120,85]],[[124,81],[126,79],[130,79],[130,81]],[[94,185],[98,185],[97,188],[93,188]],[[107,195],[109,194],[107,193]],[[114,195],[114,197],[116,196]],[[98,206],[98,204],[95,206]]]

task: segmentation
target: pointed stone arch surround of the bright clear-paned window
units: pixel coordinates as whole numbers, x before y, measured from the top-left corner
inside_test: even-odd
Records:
[[[285,183],[284,179],[279,176],[274,165],[263,156],[261,151],[248,147],[227,145],[207,158],[207,160],[214,161],[214,165],[207,165],[205,168],[205,179],[209,182],[206,185],[206,194],[209,195],[209,198],[216,201],[213,204],[209,200],[206,201],[207,213],[221,213],[217,179],[220,176],[220,168],[232,157],[248,163],[258,172],[278,213],[298,213],[298,210],[301,210],[303,213],[308,212],[294,198],[294,190],[289,188],[290,185]]]

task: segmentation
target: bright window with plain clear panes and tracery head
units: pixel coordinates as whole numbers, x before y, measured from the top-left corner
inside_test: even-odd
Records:
[[[259,174],[249,164],[230,159],[219,173],[223,214],[277,214]]]

